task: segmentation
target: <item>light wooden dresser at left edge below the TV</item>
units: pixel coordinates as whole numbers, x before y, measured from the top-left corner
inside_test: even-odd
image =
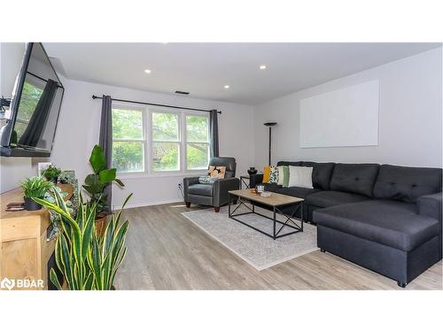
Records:
[[[51,225],[49,212],[4,211],[8,203],[23,202],[21,189],[1,194],[0,201],[0,282],[6,277],[14,280],[13,290],[47,290],[47,266],[55,247],[55,240],[46,240]],[[17,280],[34,281],[31,284],[43,280],[43,288],[19,288]]]

